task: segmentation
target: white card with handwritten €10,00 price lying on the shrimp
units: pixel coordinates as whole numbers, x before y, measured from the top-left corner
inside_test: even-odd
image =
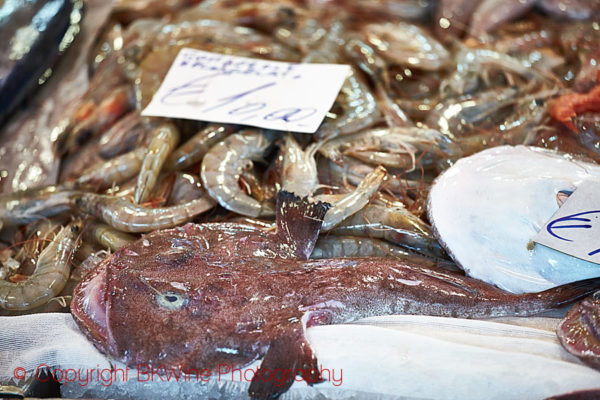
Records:
[[[349,72],[186,48],[142,115],[314,133]]]

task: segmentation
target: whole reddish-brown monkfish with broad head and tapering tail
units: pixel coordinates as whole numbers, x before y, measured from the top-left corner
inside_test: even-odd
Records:
[[[264,375],[257,374],[249,395],[275,398],[295,374],[320,381],[304,334],[308,326],[387,314],[531,315],[600,285],[598,278],[513,295],[393,259],[306,260],[304,252],[286,247],[290,238],[311,238],[314,244],[324,214],[315,209],[326,207],[310,205],[304,216],[282,212],[302,209],[304,200],[285,194],[278,200],[278,229],[268,235],[276,252],[287,256],[258,257],[254,252],[267,245],[259,235],[243,244],[241,235],[223,239],[233,224],[222,232],[216,224],[210,232],[192,225],[154,232],[118,250],[81,281],[71,303],[79,327],[98,349],[128,365],[216,370],[219,364],[237,367],[264,357]],[[190,236],[194,232],[205,235]],[[311,247],[302,241],[300,248]]]

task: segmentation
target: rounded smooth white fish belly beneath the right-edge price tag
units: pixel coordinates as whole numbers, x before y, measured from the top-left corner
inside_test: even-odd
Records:
[[[600,265],[533,242],[563,193],[587,181],[600,182],[599,165],[535,147],[491,148],[436,179],[429,220],[467,275],[512,293],[600,277]]]

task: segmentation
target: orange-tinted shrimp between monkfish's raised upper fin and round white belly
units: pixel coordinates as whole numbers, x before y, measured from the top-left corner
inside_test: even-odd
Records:
[[[423,255],[446,258],[431,228],[399,202],[369,204],[331,233],[384,239]]]

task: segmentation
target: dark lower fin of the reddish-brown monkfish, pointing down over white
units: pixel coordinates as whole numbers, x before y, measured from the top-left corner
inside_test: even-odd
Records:
[[[301,376],[308,385],[322,382],[317,357],[303,330],[271,342],[248,395],[253,399],[276,399],[292,386],[296,376]]]

